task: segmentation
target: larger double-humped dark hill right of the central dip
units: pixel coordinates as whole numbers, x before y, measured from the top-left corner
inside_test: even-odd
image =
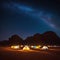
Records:
[[[60,45],[60,38],[56,35],[55,32],[48,31],[43,34],[35,34],[32,37],[27,37],[25,39],[27,44],[35,45]]]

